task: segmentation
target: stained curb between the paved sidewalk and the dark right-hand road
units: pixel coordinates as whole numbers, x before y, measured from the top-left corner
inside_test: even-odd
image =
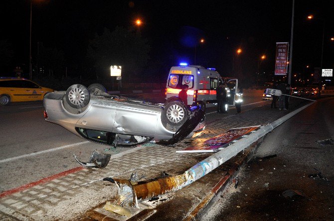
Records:
[[[186,218],[183,219],[183,221],[199,221],[202,219],[202,215],[208,212],[216,198],[219,197],[219,195],[232,183],[240,168],[253,157],[255,150],[260,146],[263,140],[264,137],[260,138],[257,142],[254,142],[250,147],[245,149],[246,153],[244,152],[244,156],[232,165],[230,170],[210,190],[210,193],[190,212]]]

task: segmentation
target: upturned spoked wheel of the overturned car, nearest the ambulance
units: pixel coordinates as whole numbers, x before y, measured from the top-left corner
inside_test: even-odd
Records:
[[[179,100],[167,102],[162,112],[162,122],[171,126],[182,125],[189,117],[188,110]]]

